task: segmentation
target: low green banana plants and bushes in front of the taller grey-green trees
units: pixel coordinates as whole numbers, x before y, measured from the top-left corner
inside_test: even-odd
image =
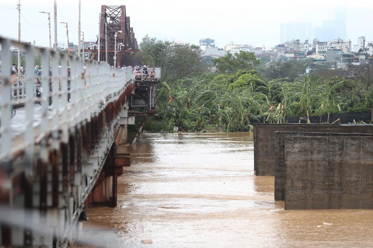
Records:
[[[298,65],[285,62],[279,66],[294,70],[304,66],[295,63]],[[267,80],[265,75],[276,72],[263,75],[258,66],[256,70],[163,82],[157,90],[159,116],[145,128],[157,132],[171,132],[173,126],[188,132],[251,131],[254,120],[284,123],[288,116],[299,116],[309,122],[311,115],[367,112],[373,105],[373,69],[364,70],[353,80],[313,73],[291,81],[290,74],[283,72],[279,74],[283,78]],[[171,103],[167,103],[169,94]]]

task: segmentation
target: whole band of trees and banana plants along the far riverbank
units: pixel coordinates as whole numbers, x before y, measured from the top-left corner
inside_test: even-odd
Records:
[[[157,86],[159,116],[145,129],[170,132],[251,131],[253,122],[284,123],[285,117],[338,112],[368,112],[373,106],[373,69],[343,77],[325,69],[304,75],[309,64],[289,61],[266,65],[241,51],[206,64],[198,46],[145,37],[137,59],[161,67]],[[211,67],[215,73],[209,73]],[[171,99],[172,98],[172,99]]]

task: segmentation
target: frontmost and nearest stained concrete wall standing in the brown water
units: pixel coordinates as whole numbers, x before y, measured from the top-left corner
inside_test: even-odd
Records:
[[[288,209],[373,209],[373,137],[285,137]]]

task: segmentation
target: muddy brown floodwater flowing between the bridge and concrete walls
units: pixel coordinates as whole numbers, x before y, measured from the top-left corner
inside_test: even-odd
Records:
[[[274,177],[254,175],[252,133],[143,133],[126,148],[118,206],[88,209],[121,247],[373,246],[373,210],[275,202]]]

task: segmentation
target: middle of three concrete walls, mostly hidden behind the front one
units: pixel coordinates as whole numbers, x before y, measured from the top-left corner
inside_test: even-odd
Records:
[[[285,200],[286,167],[285,167],[285,138],[286,137],[327,137],[327,136],[373,136],[359,133],[304,133],[304,132],[275,132],[275,201]]]

